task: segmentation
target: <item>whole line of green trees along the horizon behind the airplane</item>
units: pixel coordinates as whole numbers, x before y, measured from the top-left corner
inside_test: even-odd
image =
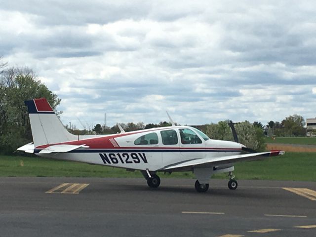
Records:
[[[42,83],[32,69],[8,67],[0,58],[0,153],[12,154],[16,148],[32,141],[32,133],[25,100],[45,97],[57,116],[62,111],[56,108],[61,99],[50,91]],[[143,122],[121,123],[125,131],[135,131],[153,127],[171,126],[171,123],[161,121],[159,123]],[[238,122],[235,124],[239,142],[257,151],[265,148],[264,135],[270,136],[305,136],[305,120],[302,116],[292,115],[286,117],[281,122],[270,121],[267,125],[255,121]],[[115,134],[120,132],[117,125],[108,127],[96,124],[91,129],[79,130],[75,127],[66,128],[75,135],[84,134]],[[228,120],[218,123],[210,123],[197,126],[211,139],[234,141]]]

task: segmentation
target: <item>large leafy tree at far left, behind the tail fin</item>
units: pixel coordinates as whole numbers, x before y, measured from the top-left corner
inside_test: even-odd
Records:
[[[0,152],[11,153],[32,141],[25,100],[45,97],[56,111],[57,95],[28,68],[9,68],[0,75]],[[56,111],[57,112],[57,111]],[[57,112],[58,114],[58,112]]]

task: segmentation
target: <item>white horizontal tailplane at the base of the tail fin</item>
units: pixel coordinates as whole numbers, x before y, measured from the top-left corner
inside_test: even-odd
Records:
[[[49,153],[66,153],[73,150],[76,150],[78,148],[89,148],[88,146],[85,146],[85,144],[82,145],[68,145],[68,144],[60,144],[60,145],[52,145],[49,147],[46,147],[45,149],[42,149],[39,154],[49,154]],[[34,144],[29,143],[22,147],[19,147],[16,149],[18,151],[24,151],[27,153],[34,153]]]

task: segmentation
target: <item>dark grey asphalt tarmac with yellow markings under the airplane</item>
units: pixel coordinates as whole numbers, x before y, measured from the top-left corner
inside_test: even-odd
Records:
[[[0,237],[316,237],[316,182],[194,182],[0,178]]]

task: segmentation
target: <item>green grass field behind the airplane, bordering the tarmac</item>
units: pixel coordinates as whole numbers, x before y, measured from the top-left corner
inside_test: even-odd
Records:
[[[316,153],[287,153],[265,160],[238,162],[237,179],[316,181]],[[194,178],[192,172],[158,174],[161,178]],[[46,158],[0,156],[0,176],[6,177],[143,177],[139,171]],[[227,178],[226,174],[214,178]]]

